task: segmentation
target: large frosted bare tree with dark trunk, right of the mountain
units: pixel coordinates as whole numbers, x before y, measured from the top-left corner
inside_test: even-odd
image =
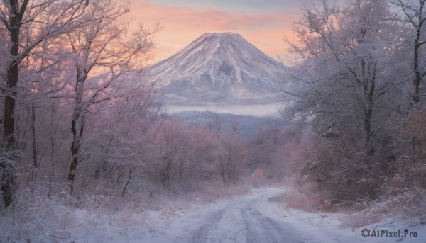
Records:
[[[287,40],[305,59],[291,73],[289,80],[295,81],[283,89],[293,113],[308,111],[326,136],[355,128],[364,137],[366,153],[373,152],[371,141],[388,115],[374,109],[377,102],[404,81],[389,77],[385,69],[396,62],[389,55],[396,43],[389,44],[388,35],[397,26],[377,16],[390,15],[384,1],[352,1],[342,11],[323,1],[322,9],[305,9],[302,21],[295,23],[300,41]]]

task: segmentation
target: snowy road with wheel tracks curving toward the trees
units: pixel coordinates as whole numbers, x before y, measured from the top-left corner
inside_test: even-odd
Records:
[[[301,219],[299,213],[288,214],[295,210],[283,210],[268,200],[283,193],[283,190],[262,189],[253,191],[249,196],[214,203],[156,229],[150,238],[142,242],[349,243],[362,240],[357,232],[339,229],[333,222],[321,222],[321,216],[319,219]]]

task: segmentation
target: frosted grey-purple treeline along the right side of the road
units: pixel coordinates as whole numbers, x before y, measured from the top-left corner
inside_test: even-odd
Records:
[[[426,1],[321,1],[285,39],[297,185],[327,205],[426,188]],[[303,161],[302,163],[300,163]]]

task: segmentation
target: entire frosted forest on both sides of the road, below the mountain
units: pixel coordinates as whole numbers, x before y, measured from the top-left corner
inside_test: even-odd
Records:
[[[130,2],[2,0],[0,217],[55,203],[171,213],[266,185],[293,188],[280,200],[303,210],[425,215],[425,8],[305,5],[283,40],[284,125],[244,141],[219,115],[187,125],[165,112],[146,75],[162,26],[133,23]]]

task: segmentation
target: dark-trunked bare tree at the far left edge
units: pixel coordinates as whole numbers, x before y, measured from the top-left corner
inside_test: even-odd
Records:
[[[74,28],[75,19],[84,11],[84,0],[69,1],[29,1],[10,0],[0,3],[0,21],[7,30],[6,36],[9,55],[6,57],[6,70],[1,74],[4,81],[2,91],[4,100],[4,146],[6,149],[16,149],[15,106],[16,86],[19,79],[19,64],[24,58],[32,55],[32,51],[48,38],[61,35]],[[29,30],[27,40],[21,39],[21,30]],[[31,38],[31,39],[30,39]],[[1,163],[3,183],[1,191],[4,194],[4,203],[11,204],[11,184],[13,174],[7,164]]]

